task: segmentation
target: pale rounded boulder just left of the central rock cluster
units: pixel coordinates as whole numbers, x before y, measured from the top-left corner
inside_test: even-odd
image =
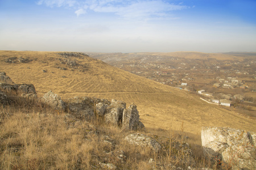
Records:
[[[66,104],[61,100],[59,95],[54,94],[52,91],[48,91],[44,94],[42,101],[56,110],[65,111]]]

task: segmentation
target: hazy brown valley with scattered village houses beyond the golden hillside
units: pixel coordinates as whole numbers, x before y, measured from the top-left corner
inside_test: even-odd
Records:
[[[250,110],[256,104],[256,58],[252,56],[243,56],[239,60],[141,53],[89,56],[147,79],[189,91],[210,103],[241,108],[241,112]],[[255,113],[250,114],[256,118]]]

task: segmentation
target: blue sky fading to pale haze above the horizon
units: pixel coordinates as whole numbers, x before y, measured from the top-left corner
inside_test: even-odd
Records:
[[[0,50],[256,52],[256,0],[0,0]]]

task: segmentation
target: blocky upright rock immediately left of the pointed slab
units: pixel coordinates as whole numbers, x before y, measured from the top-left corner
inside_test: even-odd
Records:
[[[123,101],[112,100],[111,104],[106,108],[104,120],[107,124],[121,125],[123,110],[126,108],[126,103]]]

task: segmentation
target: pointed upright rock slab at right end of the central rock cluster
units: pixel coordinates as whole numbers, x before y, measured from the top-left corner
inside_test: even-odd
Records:
[[[137,106],[131,104],[128,109],[124,109],[122,118],[122,128],[127,130],[142,130],[144,125],[139,121]]]

